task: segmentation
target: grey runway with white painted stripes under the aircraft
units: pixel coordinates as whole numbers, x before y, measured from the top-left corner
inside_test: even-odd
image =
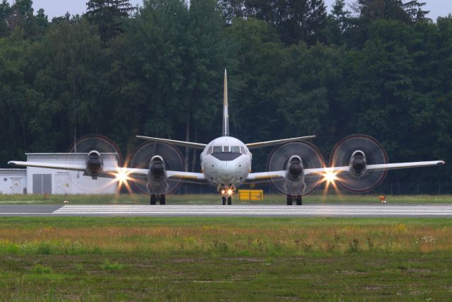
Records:
[[[0,216],[452,217],[452,204],[0,205]]]

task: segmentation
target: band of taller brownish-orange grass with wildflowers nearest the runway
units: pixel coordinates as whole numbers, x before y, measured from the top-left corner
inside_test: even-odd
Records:
[[[433,252],[452,250],[451,226],[380,223],[362,226],[90,226],[1,228],[0,255],[228,253],[304,255],[308,252]]]

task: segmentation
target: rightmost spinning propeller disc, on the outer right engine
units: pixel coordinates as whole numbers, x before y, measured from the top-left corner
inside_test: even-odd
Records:
[[[379,141],[361,134],[339,141],[330,158],[332,167],[350,166],[350,172],[340,173],[335,182],[354,193],[369,192],[381,184],[387,170],[367,171],[366,166],[383,163],[388,163],[388,156]]]

